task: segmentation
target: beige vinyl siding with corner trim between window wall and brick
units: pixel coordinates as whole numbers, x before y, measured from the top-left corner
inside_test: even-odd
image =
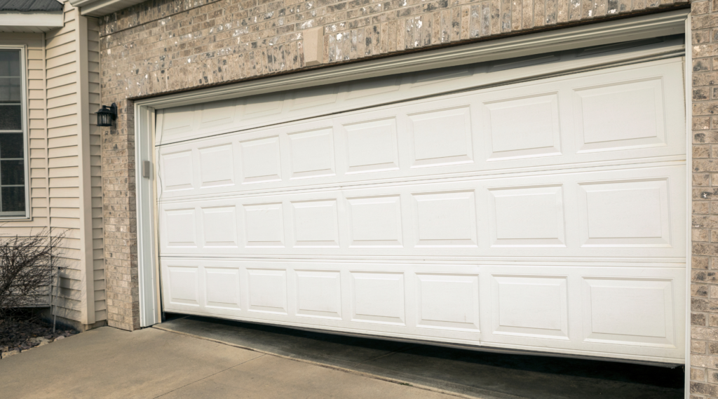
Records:
[[[45,37],[50,225],[66,230],[57,315],[82,324],[106,319],[101,159],[93,149],[100,131],[90,124],[90,108],[99,108],[98,40],[96,21],[67,3],[65,26]]]

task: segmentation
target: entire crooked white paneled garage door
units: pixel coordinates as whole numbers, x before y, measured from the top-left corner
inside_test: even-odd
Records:
[[[671,43],[158,111],[164,310],[681,362],[684,60],[440,94]]]

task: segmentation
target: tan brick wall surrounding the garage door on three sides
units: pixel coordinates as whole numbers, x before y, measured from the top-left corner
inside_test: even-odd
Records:
[[[711,146],[718,143],[718,127],[710,130],[718,126],[718,116],[711,117],[718,111],[718,100],[711,100],[718,98],[718,85],[710,86],[718,83],[718,72],[711,72],[714,64],[718,70],[718,29],[712,29],[718,28],[718,13],[709,14],[718,11],[713,1],[718,0],[692,5],[694,209],[700,215],[694,221],[694,398],[718,398],[718,285],[709,289],[718,282],[709,271],[710,255],[718,256],[718,201],[710,201],[718,196],[718,161],[713,166],[709,159],[718,158],[718,146],[716,151]],[[306,69],[302,31],[314,27],[324,29],[327,65],[686,5],[673,0],[151,0],[103,17],[102,103],[120,108],[116,127],[103,131],[108,323],[139,328],[129,99]],[[717,172],[715,189],[710,172]],[[709,230],[713,225],[715,233]]]

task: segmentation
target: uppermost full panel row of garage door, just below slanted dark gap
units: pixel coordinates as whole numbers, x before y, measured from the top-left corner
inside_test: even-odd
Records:
[[[681,159],[681,61],[612,71],[161,146],[162,199]]]

